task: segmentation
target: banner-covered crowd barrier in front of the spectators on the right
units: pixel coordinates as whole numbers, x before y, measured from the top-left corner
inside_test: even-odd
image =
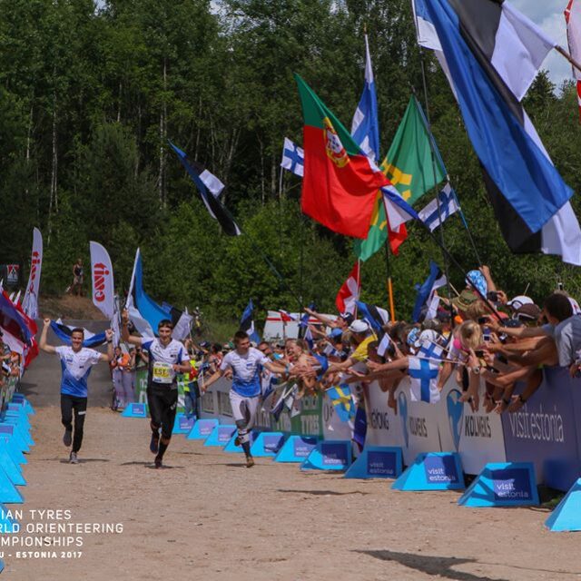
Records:
[[[230,382],[217,381],[202,397],[201,417],[231,424]],[[567,369],[547,368],[537,393],[515,413],[487,414],[482,401],[473,412],[459,401],[460,389],[451,378],[436,404],[411,401],[409,379],[396,391],[398,411],[388,407],[388,394],[371,383],[366,388],[368,431],[366,445],[399,447],[403,462],[411,465],[420,453],[458,452],[464,472],[478,475],[489,463],[532,462],[538,484],[568,490],[581,476],[581,380]],[[516,393],[521,391],[517,387]],[[350,428],[341,422],[328,398],[302,400],[299,416],[283,412],[279,421],[261,410],[259,430],[314,436],[323,440],[350,439]]]

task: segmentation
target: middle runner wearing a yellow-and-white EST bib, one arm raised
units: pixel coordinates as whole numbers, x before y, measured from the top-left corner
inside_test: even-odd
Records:
[[[162,468],[165,450],[172,439],[173,422],[178,407],[178,373],[189,372],[190,358],[180,341],[172,339],[171,320],[161,320],[157,327],[158,338],[149,340],[130,335],[127,328],[129,313],[124,310],[121,336],[126,343],[141,345],[149,351],[147,374],[147,405],[152,418],[152,439],[149,449],[155,454],[155,468]],[[160,428],[162,438],[160,439]]]

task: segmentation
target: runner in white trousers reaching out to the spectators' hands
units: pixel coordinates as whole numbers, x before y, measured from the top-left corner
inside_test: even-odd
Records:
[[[261,368],[273,373],[288,372],[281,363],[274,363],[261,351],[251,347],[248,333],[239,330],[234,335],[234,350],[224,356],[220,369],[210,379],[205,381],[205,392],[214,381],[220,379],[228,369],[231,369],[233,378],[230,390],[232,415],[238,428],[237,446],[242,446],[246,455],[246,468],[254,466],[251,457],[251,429],[256,419],[256,412],[261,396]]]

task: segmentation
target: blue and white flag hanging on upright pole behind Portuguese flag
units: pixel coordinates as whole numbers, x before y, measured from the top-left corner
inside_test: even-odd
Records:
[[[369,42],[365,34],[365,87],[351,122],[351,136],[370,160],[379,160],[378,98],[371,68]]]

